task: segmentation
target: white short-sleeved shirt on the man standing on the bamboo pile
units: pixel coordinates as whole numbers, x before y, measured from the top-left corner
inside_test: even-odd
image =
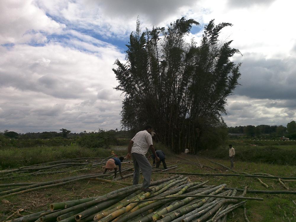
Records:
[[[147,130],[139,131],[131,140],[133,141],[131,153],[146,155],[149,146],[153,145],[152,136]]]

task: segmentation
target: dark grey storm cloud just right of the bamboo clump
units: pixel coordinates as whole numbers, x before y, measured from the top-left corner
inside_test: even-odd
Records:
[[[295,99],[294,59],[242,59],[242,73],[234,94],[255,99]]]

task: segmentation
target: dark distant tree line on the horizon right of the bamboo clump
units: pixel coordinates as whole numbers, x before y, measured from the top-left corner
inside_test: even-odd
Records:
[[[263,134],[268,134],[271,137],[281,137],[286,136],[290,139],[296,139],[296,122],[293,120],[286,126],[269,126],[269,125],[259,125],[259,126],[235,126],[228,127],[228,133],[234,134],[247,134],[249,137],[258,137]]]

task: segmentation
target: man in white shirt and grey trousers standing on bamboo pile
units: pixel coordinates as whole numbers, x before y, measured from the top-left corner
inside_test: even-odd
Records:
[[[150,149],[155,156],[155,159],[157,162],[160,161],[157,154],[155,153],[155,149],[153,147],[152,142],[152,126],[147,125],[144,128],[145,130],[139,131],[133,139],[128,144],[128,158],[133,157],[133,166],[134,166],[134,172],[133,172],[133,185],[139,183],[140,178],[140,170],[142,170],[142,174],[144,176],[144,182],[142,186],[142,191],[152,191],[152,189],[149,189],[150,180],[151,180],[151,170],[152,167],[149,163],[149,161],[146,158],[146,153],[148,149]]]

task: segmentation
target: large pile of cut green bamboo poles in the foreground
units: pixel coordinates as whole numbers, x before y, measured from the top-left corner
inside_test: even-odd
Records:
[[[218,221],[247,200],[237,191],[225,190],[226,184],[207,186],[175,175],[153,181],[152,192],[143,192],[141,184],[127,186],[100,197],[50,204],[49,210],[33,213],[7,222],[181,222]]]

